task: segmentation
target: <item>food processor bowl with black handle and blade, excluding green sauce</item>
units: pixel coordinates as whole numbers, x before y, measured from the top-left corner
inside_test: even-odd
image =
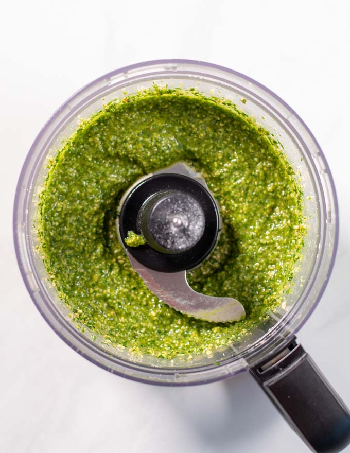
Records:
[[[278,309],[267,313],[260,325],[250,332],[242,332],[239,341],[213,351],[212,355],[195,356],[190,362],[177,357],[166,360],[147,354],[132,356],[125,349],[112,347],[103,336],[91,332],[88,327],[76,328],[76,322],[73,324],[69,317],[69,310],[58,297],[37,253],[38,197],[47,176],[49,159],[55,157],[62,140],[75,132],[82,119],[100,111],[104,104],[123,98],[125,92],[135,94],[154,83],[183,90],[195,87],[204,95],[215,95],[239,105],[241,111],[254,118],[281,143],[303,188],[307,232],[303,256],[293,276],[293,290],[285,294]],[[244,313],[239,301],[231,298],[209,301],[198,293],[190,295],[195,291],[187,285],[186,269],[199,264],[215,247],[220,234],[220,215],[205,181],[188,171],[179,164],[176,168],[148,175],[130,188],[121,200],[116,225],[120,240],[133,268],[153,292],[160,294],[163,291],[162,294],[168,295],[169,305],[191,316],[203,319],[207,316],[206,319],[213,322],[240,319]],[[176,180],[173,187],[163,187],[163,196],[152,198],[155,195],[154,184],[161,184],[162,175],[166,174],[167,181],[170,176]],[[152,180],[150,187],[153,192],[139,198],[137,190],[140,187],[144,190],[149,180]],[[187,188],[179,189],[181,184]],[[188,184],[196,188],[191,191]],[[184,192],[187,194],[185,199]],[[189,193],[193,199],[188,198]],[[177,253],[188,250],[188,238],[185,242],[169,242],[169,237],[157,236],[156,228],[169,196],[183,205],[192,203],[189,210],[197,213],[194,225],[201,231],[194,240],[199,245],[196,248],[198,256],[193,258],[193,262],[185,265],[181,262],[177,267],[172,266],[176,263]],[[132,197],[141,203],[138,210],[134,209]],[[145,206],[149,197],[152,202]],[[205,243],[200,245],[205,230],[203,225],[200,226],[204,201],[199,203],[199,200],[205,197],[204,214],[206,220],[212,222],[212,230],[205,236]],[[154,224],[149,223],[150,216],[153,216]],[[130,221],[134,222],[133,225],[129,225]],[[179,228],[183,219],[174,215],[171,222],[171,228]],[[191,227],[192,233],[197,228],[195,226]],[[189,60],[159,60],[127,66],[100,77],[69,98],[48,120],[27,155],[17,184],[13,215],[15,251],[31,298],[48,324],[75,351],[111,373],[157,385],[205,384],[250,372],[292,428],[312,451],[317,452],[340,451],[350,443],[350,413],[303,347],[296,342],[295,334],[311,315],[327,285],[335,260],[338,228],[337,198],[329,167],[320,146],[299,116],[282,99],[249,77],[214,64]],[[161,260],[161,266],[154,264],[157,260],[144,260],[140,254],[143,246],[134,249],[127,246],[125,240],[130,230],[141,231],[145,236],[148,234],[148,241],[154,241],[152,249],[162,256],[167,255],[165,261]],[[190,240],[197,234],[192,233]],[[166,266],[170,267],[166,269]],[[165,278],[165,275],[171,277]],[[179,297],[181,292],[183,296]],[[188,304],[191,297],[194,302]],[[207,308],[204,312],[203,307]],[[221,310],[219,315],[218,307]]]

